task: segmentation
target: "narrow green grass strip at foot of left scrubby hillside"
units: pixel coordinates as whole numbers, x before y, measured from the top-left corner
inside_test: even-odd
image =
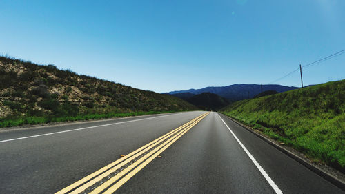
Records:
[[[149,111],[149,112],[132,112],[132,113],[106,113],[106,114],[88,114],[77,115],[75,117],[22,117],[17,119],[0,119],[0,128],[10,126],[23,126],[26,124],[46,124],[50,122],[71,122],[92,119],[108,119],[115,117],[132,117],[139,115],[154,115],[161,113],[172,113],[173,111]]]

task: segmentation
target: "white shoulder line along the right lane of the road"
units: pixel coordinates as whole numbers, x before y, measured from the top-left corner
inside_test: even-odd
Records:
[[[237,136],[235,135],[235,133],[233,133],[233,130],[231,130],[229,128],[229,126],[224,122],[224,120],[219,116],[219,114],[217,113],[218,117],[221,119],[221,121],[225,124],[225,126],[228,128],[228,130],[230,130],[230,133],[233,135],[233,137],[235,137],[236,141],[239,143],[239,145],[244,149],[244,151],[246,152],[246,154],[249,156],[249,158],[252,160],[252,162],[255,164],[255,166],[257,166],[257,169],[259,169],[260,173],[262,173],[262,175],[265,177],[266,181],[268,182],[268,184],[270,184],[270,186],[273,188],[273,190],[275,191],[275,193],[277,194],[282,194],[282,190],[279,189],[279,187],[277,186],[277,184],[275,184],[275,182],[273,182],[273,180],[270,178],[270,176],[268,176],[268,174],[266,173],[266,171],[264,170],[264,168],[262,168],[260,166],[260,164],[257,162],[257,160],[253,157],[253,155],[250,154],[250,152],[247,150],[247,148],[244,146],[244,144],[242,144],[241,141],[239,141],[239,139],[237,138]]]

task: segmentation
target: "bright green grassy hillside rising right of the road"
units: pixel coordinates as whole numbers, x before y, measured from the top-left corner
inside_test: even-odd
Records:
[[[222,112],[345,172],[345,80],[237,101]]]

